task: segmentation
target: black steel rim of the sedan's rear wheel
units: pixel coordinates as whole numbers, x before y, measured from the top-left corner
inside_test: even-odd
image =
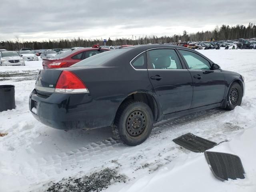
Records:
[[[146,116],[141,110],[130,112],[126,119],[126,132],[132,137],[140,136],[146,127]]]

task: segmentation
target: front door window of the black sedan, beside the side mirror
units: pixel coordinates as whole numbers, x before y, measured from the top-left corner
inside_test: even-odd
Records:
[[[202,56],[186,50],[180,50],[180,53],[185,58],[189,69],[210,70],[210,63]]]

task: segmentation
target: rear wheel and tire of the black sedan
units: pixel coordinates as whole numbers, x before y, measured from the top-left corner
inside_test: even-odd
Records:
[[[153,128],[153,114],[150,107],[140,101],[123,103],[114,120],[112,132],[126,145],[136,146],[143,143]]]

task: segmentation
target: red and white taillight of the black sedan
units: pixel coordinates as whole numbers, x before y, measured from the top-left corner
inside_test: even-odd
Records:
[[[82,80],[70,71],[62,71],[55,86],[57,93],[88,93]]]

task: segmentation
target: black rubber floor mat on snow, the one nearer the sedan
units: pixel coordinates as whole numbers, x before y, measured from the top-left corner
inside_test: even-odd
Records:
[[[207,139],[198,137],[192,133],[182,135],[174,139],[173,142],[194,152],[204,152],[217,144]]]

